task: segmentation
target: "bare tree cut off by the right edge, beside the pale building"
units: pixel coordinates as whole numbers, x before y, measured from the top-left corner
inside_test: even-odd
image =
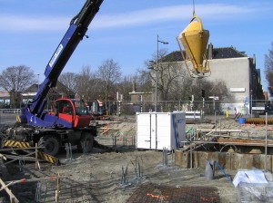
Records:
[[[273,95],[273,43],[271,43],[268,54],[265,55],[265,74],[268,81],[268,91],[270,95]]]

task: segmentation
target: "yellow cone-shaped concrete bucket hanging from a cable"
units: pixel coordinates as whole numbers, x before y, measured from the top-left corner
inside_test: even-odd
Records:
[[[185,62],[186,57],[184,56],[179,41],[184,46],[187,58],[193,64],[192,70],[187,67],[187,70],[192,77],[205,77],[210,75],[209,64],[206,58],[208,38],[209,31],[203,29],[202,20],[195,14],[187,27],[177,37],[177,43]],[[203,65],[204,59],[205,65]]]

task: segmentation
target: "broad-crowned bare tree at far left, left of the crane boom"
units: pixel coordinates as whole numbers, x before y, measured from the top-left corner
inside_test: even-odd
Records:
[[[11,96],[11,105],[20,106],[20,95],[33,83],[37,83],[35,73],[25,65],[7,67],[0,74],[0,86]]]

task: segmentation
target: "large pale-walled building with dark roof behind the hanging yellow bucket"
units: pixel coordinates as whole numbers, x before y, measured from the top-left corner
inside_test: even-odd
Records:
[[[226,105],[228,109],[237,108],[238,111],[250,113],[252,106],[264,102],[260,70],[256,67],[255,55],[249,57],[232,46],[213,48],[210,43],[207,49],[207,59],[211,70],[207,80],[226,82],[227,89],[234,98],[232,102],[223,103],[224,106]],[[164,62],[177,63],[174,67],[187,68],[179,51],[167,54]]]

